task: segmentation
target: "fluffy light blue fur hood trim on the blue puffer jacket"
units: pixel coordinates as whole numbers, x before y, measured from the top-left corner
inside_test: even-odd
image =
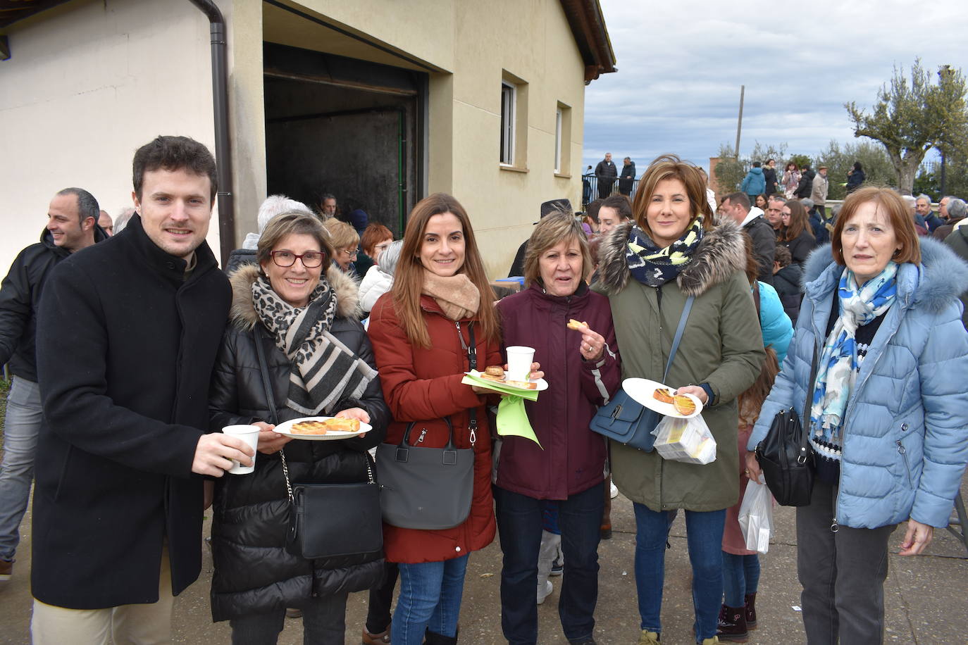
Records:
[[[921,264],[902,264],[897,272],[897,297],[905,307],[921,305],[940,311],[957,299],[968,284],[968,264],[952,249],[929,237],[921,242]],[[843,267],[833,262],[830,244],[814,249],[803,264],[803,291],[815,299],[832,293]]]

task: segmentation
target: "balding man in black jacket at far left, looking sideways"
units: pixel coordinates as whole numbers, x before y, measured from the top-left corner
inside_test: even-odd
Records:
[[[0,466],[0,580],[14,573],[19,526],[34,479],[34,451],[44,410],[37,385],[37,311],[50,270],[76,250],[106,239],[95,223],[98,200],[83,189],[64,189],[47,207],[41,241],[20,251],[0,285],[0,365],[13,374],[4,419]]]

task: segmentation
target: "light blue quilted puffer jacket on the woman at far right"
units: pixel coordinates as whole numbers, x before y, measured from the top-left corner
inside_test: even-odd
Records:
[[[968,332],[957,300],[968,265],[934,240],[921,238],[921,246],[923,264],[902,264],[897,272],[897,300],[847,401],[832,517],[844,526],[876,528],[909,517],[947,526],[968,461]],[[829,246],[807,259],[797,333],[749,450],[781,409],[802,415],[814,341],[822,346],[826,339],[842,272]]]

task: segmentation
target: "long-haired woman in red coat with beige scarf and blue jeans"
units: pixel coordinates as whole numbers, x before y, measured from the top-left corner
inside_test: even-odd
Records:
[[[470,513],[450,529],[383,524],[386,559],[400,565],[400,596],[390,629],[394,645],[457,642],[457,620],[470,551],[494,540],[491,432],[485,390],[462,385],[469,347],[478,365],[499,365],[499,323],[464,208],[437,193],[413,207],[393,289],[370,314],[370,338],[399,443],[409,422],[428,430],[424,446],[440,448],[449,416],[458,448],[474,450]],[[471,332],[472,328],[472,332]],[[471,342],[471,338],[473,341]]]

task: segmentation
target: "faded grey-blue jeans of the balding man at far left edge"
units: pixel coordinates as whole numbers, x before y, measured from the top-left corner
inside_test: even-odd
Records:
[[[44,410],[41,390],[33,381],[14,377],[7,396],[0,465],[0,559],[13,560],[20,542],[20,520],[27,510],[34,480],[34,453]]]

